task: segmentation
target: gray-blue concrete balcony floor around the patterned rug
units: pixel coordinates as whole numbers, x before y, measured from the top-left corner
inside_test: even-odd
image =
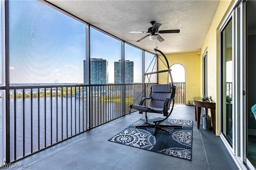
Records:
[[[202,111],[202,114],[205,113]],[[148,113],[162,117],[160,114]],[[235,170],[238,169],[220,137],[212,130],[196,127],[194,106],[176,105],[170,118],[193,121],[192,160],[176,158],[108,141],[144,114],[126,115],[32,154],[14,163],[28,164],[25,169],[85,170]]]

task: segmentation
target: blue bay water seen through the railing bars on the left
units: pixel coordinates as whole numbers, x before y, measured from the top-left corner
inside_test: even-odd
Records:
[[[79,91],[75,91],[70,95],[47,97],[46,93],[58,93],[54,89],[57,88],[40,88],[31,91],[30,89],[24,89],[24,91],[16,89],[15,99],[12,97],[14,90],[10,90],[11,161],[115,119],[121,114],[119,92],[108,90],[97,95],[92,93],[89,106],[82,91],[80,94]],[[26,96],[30,92],[33,97]],[[61,93],[64,94],[64,91]],[[34,94],[38,94],[39,97]],[[109,98],[109,96],[112,97]],[[90,115],[87,114],[89,108]],[[0,97],[0,110],[2,110],[2,97]],[[0,134],[2,134],[2,123]],[[2,141],[1,135],[0,141]]]

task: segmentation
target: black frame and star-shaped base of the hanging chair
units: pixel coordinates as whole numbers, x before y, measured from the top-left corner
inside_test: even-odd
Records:
[[[168,119],[168,117],[170,117],[170,115],[172,114],[172,111],[173,111],[173,108],[174,108],[174,97],[175,97],[175,93],[176,93],[176,86],[174,86],[173,84],[173,80],[172,80],[172,74],[171,74],[171,70],[170,70],[170,66],[169,66],[169,63],[168,63],[168,60],[166,58],[166,56],[164,55],[164,53],[162,53],[162,51],[158,50],[158,49],[154,49],[154,51],[156,52],[159,52],[162,54],[162,56],[164,57],[165,61],[166,61],[166,67],[168,68],[167,70],[161,70],[161,71],[154,71],[154,72],[151,72],[151,73],[145,73],[144,75],[151,75],[151,74],[157,74],[157,73],[163,73],[163,72],[168,72],[168,78],[170,76],[170,80],[171,80],[171,85],[168,85],[168,82],[167,82],[167,85],[166,85],[166,100],[164,102],[164,107],[163,107],[163,110],[158,110],[158,109],[154,109],[154,108],[151,108],[151,107],[147,107],[145,106],[145,101],[146,99],[152,99],[152,87],[151,87],[151,92],[150,92],[150,96],[149,97],[143,97],[141,100],[140,100],[140,103],[139,105],[130,105],[130,112],[131,112],[131,109],[136,109],[139,111],[139,113],[142,114],[142,112],[145,112],[145,117],[146,117],[146,122],[145,124],[146,125],[141,125],[141,126],[136,126],[136,128],[154,128],[154,136],[156,135],[156,132],[158,130],[162,130],[168,134],[170,134],[170,132],[168,130],[166,130],[166,128],[183,128],[182,126],[180,125],[162,125],[161,123],[163,121],[165,121],[166,119]],[[157,55],[157,54],[156,54]],[[162,61],[163,62],[163,61]],[[164,63],[164,62],[163,62]],[[171,96],[170,98],[167,98],[167,93],[168,93],[168,87],[171,86]],[[146,89],[147,86],[145,86],[145,89]],[[145,90],[144,89],[144,90]],[[143,90],[143,91],[144,91]],[[142,92],[143,92],[142,91]],[[142,93],[141,93],[142,94]],[[138,98],[137,98],[138,99]],[[170,109],[170,103],[172,101],[172,106],[171,106],[171,109]],[[169,106],[169,108],[168,108]],[[168,110],[170,110],[170,112],[168,112]],[[161,119],[161,120],[158,120],[158,121],[153,121],[153,123],[148,123],[148,116],[147,116],[147,112],[150,112],[150,113],[163,113],[165,118],[164,119]]]

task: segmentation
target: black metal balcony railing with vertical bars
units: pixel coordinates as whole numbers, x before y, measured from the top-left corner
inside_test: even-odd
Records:
[[[128,114],[151,85],[11,86],[10,162]],[[174,85],[175,103],[184,104],[185,83]]]

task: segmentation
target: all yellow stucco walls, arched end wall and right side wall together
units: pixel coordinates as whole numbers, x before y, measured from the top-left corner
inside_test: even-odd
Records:
[[[171,65],[179,63],[185,67],[186,74],[186,104],[195,96],[202,96],[202,57],[207,51],[207,89],[208,96],[216,102],[216,135],[220,135],[220,59],[219,59],[219,30],[228,16],[235,0],[220,0],[212,23],[202,44],[201,51],[189,53],[165,54]],[[201,54],[201,55],[198,55]],[[158,63],[159,70],[166,69],[161,62]],[[158,83],[167,82],[166,75],[158,76]],[[208,111],[210,113],[210,110]],[[210,113],[211,114],[211,113]]]

